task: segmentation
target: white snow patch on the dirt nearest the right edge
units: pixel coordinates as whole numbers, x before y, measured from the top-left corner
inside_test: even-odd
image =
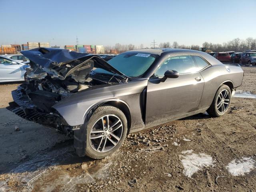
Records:
[[[240,160],[232,160],[226,168],[233,176],[239,176],[251,172],[255,166],[256,162],[251,157],[244,157]]]

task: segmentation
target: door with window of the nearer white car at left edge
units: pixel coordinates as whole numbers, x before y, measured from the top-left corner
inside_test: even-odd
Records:
[[[21,78],[20,65],[13,64],[12,60],[0,57],[0,81]]]

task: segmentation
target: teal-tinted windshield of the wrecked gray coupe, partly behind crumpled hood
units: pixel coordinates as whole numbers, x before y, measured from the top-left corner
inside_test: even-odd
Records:
[[[144,53],[123,53],[108,61],[110,65],[128,77],[139,77],[148,70],[156,60],[157,55]],[[106,70],[97,68],[96,73],[107,73]]]

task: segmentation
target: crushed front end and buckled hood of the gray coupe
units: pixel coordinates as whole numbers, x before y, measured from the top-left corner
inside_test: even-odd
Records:
[[[53,108],[61,100],[96,87],[127,82],[128,77],[100,57],[64,49],[36,48],[23,51],[30,59],[28,82],[12,91],[14,102],[9,110],[18,116],[71,134],[80,126],[70,126]],[[112,75],[91,75],[102,68]],[[85,92],[86,94],[86,92]]]

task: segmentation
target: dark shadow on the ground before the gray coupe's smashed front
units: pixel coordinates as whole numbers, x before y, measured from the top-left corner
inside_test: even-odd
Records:
[[[78,157],[73,142],[73,138],[56,130],[26,121],[0,108],[0,174],[34,172],[93,160]]]

